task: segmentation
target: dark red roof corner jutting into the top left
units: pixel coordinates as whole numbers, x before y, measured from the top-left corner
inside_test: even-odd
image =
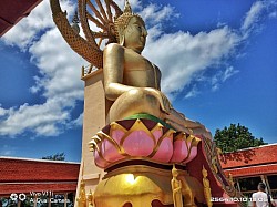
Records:
[[[1,0],[0,1],[0,37],[28,17],[42,0]]]

